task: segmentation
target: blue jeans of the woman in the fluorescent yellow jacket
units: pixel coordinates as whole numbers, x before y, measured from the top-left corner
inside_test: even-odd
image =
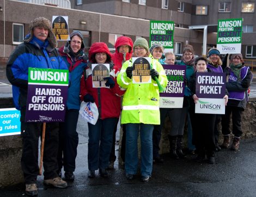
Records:
[[[137,174],[138,168],[138,134],[141,137],[141,175],[151,176],[153,167],[153,135],[154,125],[126,124],[126,174]]]

